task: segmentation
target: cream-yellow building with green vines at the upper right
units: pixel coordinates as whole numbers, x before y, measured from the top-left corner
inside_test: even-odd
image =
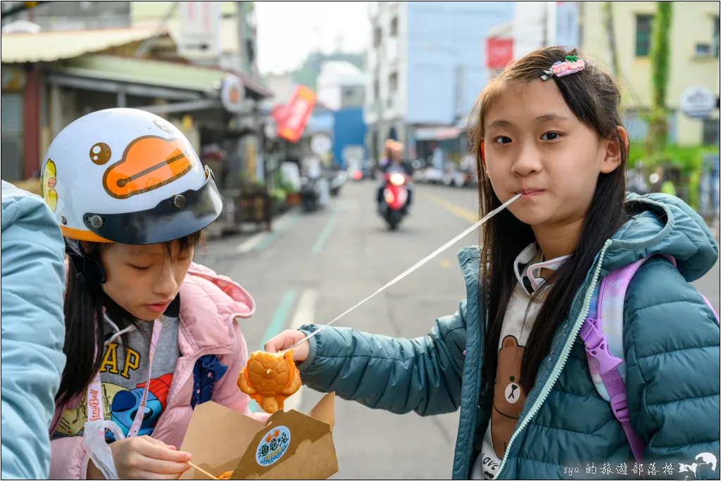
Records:
[[[580,3],[581,47],[585,55],[612,65],[608,32],[603,22],[603,3]],[[651,42],[655,1],[611,2],[619,72],[624,89],[624,107],[632,138],[644,140],[647,126],[642,113],[651,106]],[[671,20],[671,65],[666,105],[671,111],[670,141],[678,145],[719,143],[719,2],[673,2]],[[716,109],[706,120],[695,120],[681,112],[681,93],[689,86],[705,86],[717,97]]]

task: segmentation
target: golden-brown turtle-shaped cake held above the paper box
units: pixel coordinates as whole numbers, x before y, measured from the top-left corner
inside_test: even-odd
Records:
[[[292,349],[276,354],[255,351],[238,377],[238,388],[269,414],[283,409],[285,400],[300,387],[301,373]]]

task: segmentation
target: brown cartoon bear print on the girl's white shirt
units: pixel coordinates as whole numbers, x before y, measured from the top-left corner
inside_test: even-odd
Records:
[[[493,392],[493,412],[491,415],[491,438],[493,451],[498,459],[503,459],[510,435],[518,423],[526,393],[521,382],[521,359],[523,346],[513,336],[505,336],[498,351],[496,385]]]

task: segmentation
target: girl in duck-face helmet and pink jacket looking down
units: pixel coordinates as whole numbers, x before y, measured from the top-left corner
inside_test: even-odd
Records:
[[[161,117],[108,109],[53,140],[43,197],[68,255],[50,478],[177,479],[195,405],[251,415],[236,318],[255,303],[192,261],[221,212],[213,174]]]

